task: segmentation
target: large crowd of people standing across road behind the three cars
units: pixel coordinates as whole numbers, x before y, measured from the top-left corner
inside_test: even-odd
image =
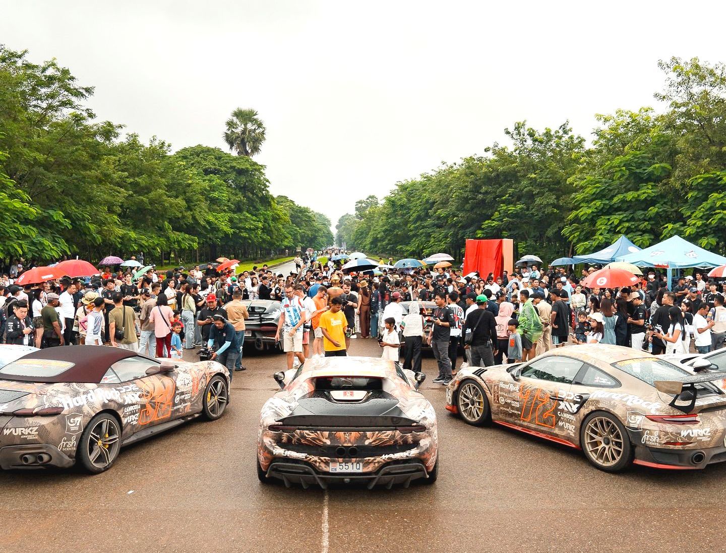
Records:
[[[431,347],[446,384],[463,363],[527,361],[566,344],[605,343],[659,353],[707,353],[726,339],[726,284],[703,271],[682,275],[668,290],[655,270],[619,289],[586,289],[564,267],[515,267],[511,274],[462,275],[454,266],[348,273],[319,255],[295,258],[295,271],[267,266],[219,274],[213,266],[135,277],[100,275],[20,287],[18,264],[0,277],[0,340],[38,348],[107,344],[181,359],[209,348],[230,372],[244,370],[248,310],[243,300],[278,300],[276,341],[293,368],[311,356],[346,355],[351,339],[377,339],[386,359],[421,370]],[[392,261],[392,260],[389,260]],[[381,265],[385,262],[381,260]]]

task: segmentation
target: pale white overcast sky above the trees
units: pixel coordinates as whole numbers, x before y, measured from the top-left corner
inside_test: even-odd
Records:
[[[701,5],[703,4],[703,5]],[[227,149],[258,110],[273,194],[333,221],[517,120],[589,137],[655,105],[672,55],[726,61],[722,2],[0,0],[0,43],[96,87],[99,118]]]

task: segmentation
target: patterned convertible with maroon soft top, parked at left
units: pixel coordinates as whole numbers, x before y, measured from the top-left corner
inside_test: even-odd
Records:
[[[81,466],[103,472],[121,446],[229,403],[216,361],[157,360],[121,348],[69,345],[0,368],[0,467]]]

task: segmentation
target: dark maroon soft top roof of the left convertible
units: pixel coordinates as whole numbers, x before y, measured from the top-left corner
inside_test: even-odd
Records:
[[[73,363],[69,369],[53,376],[2,374],[2,369],[0,369],[0,378],[21,382],[93,382],[98,384],[108,368],[116,361],[136,356],[144,357],[136,351],[111,348],[107,345],[59,345],[55,348],[33,351],[20,359],[68,361]],[[154,360],[149,359],[149,361]],[[12,363],[8,366],[12,366]]]

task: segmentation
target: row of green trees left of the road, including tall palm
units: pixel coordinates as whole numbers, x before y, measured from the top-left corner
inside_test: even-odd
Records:
[[[258,120],[261,129],[234,142],[240,155],[173,152],[97,120],[85,103],[93,93],[56,60],[36,64],[0,46],[0,258],[192,260],[333,242],[325,216],[269,192],[264,166],[249,157],[264,141]],[[257,119],[232,115],[248,112]]]

